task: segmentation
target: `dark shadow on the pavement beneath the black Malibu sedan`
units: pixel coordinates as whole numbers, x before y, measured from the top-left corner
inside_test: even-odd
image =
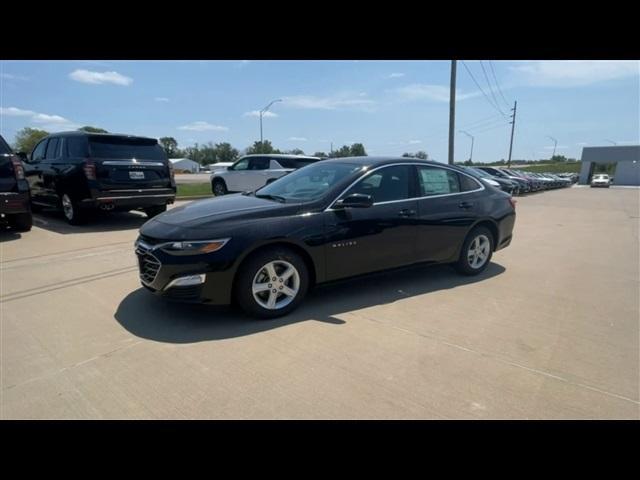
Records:
[[[238,307],[174,303],[144,288],[127,295],[115,319],[133,335],[166,343],[195,343],[252,335],[298,322],[346,323],[336,315],[393,303],[417,295],[456,288],[500,275],[505,268],[491,263],[477,276],[463,276],[447,265],[416,266],[319,286],[300,307],[273,320],[256,320]]]

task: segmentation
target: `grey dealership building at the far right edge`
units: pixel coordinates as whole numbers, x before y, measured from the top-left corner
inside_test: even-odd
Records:
[[[611,166],[612,185],[640,185],[640,145],[584,147],[579,183],[587,185],[598,166]]]

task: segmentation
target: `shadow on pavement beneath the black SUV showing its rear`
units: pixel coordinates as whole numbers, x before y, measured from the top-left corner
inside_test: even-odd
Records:
[[[69,225],[62,212],[43,210],[33,215],[33,225],[63,235],[69,233],[112,232],[140,228],[149,218],[142,212],[94,212],[87,223]]]

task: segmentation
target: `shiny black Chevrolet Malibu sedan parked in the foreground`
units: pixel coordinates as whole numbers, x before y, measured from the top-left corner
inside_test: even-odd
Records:
[[[273,318],[316,284],[415,263],[482,272],[511,242],[515,202],[461,168],[406,158],[325,160],[255,192],[145,223],[140,279],[163,297]]]

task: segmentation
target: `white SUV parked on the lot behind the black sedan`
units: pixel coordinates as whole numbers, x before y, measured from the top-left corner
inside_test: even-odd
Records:
[[[318,160],[318,157],[304,155],[245,155],[226,169],[213,172],[211,190],[215,195],[250,192]]]

